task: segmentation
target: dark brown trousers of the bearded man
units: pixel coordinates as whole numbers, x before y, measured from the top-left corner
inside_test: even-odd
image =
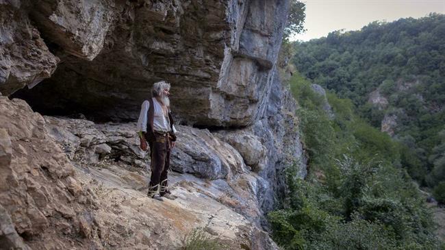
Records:
[[[157,134],[149,140],[151,156],[151,177],[149,184],[149,196],[157,194],[164,195],[168,192],[167,174],[170,168],[170,141],[168,134]]]

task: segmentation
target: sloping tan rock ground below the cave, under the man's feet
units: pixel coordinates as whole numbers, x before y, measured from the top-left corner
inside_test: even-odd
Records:
[[[48,134],[52,130],[47,125],[52,129],[63,125],[71,134]],[[118,154],[115,150],[123,150],[133,123],[94,125],[42,117],[22,100],[0,97],[0,127],[0,149],[10,159],[0,164],[2,247],[178,249],[192,229],[201,228],[228,249],[278,249],[259,226],[262,213],[255,193],[261,177],[255,173],[233,173],[216,180],[171,173],[170,186],[178,198],[160,202],[145,195],[147,171],[110,159]],[[224,147],[224,142],[205,130],[183,129],[184,134],[189,132],[212,140],[203,144]],[[91,145],[79,144],[70,160],[66,153],[71,152],[63,149],[66,142],[73,142],[73,135],[93,139]],[[105,143],[112,145],[112,151],[101,152],[105,156],[99,162],[81,157],[87,152],[82,148]],[[214,150],[220,155],[233,153],[226,147]],[[132,153],[130,148],[121,152]],[[230,168],[240,163],[230,164],[229,157],[225,160]],[[240,167],[242,163],[233,169]]]

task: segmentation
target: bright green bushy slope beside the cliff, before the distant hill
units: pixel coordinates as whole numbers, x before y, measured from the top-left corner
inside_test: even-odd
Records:
[[[424,197],[401,166],[401,146],[368,125],[351,100],[325,97],[298,73],[298,101],[309,175],[287,172],[282,208],[270,212],[272,238],[283,249],[439,249]]]

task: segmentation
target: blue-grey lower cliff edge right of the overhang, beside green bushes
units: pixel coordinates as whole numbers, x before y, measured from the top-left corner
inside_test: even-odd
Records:
[[[268,149],[266,168],[259,175],[266,180],[259,186],[258,201],[264,212],[273,210],[277,201],[285,197],[285,169],[296,166],[298,178],[307,175],[307,157],[300,140],[296,103],[292,93],[281,86],[278,75],[272,82],[272,92],[264,118],[252,126]]]

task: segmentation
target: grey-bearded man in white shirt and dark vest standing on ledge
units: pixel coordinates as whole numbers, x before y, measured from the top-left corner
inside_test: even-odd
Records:
[[[170,149],[175,147],[175,127],[170,114],[170,84],[165,81],[153,84],[153,97],[142,103],[138,119],[140,149],[150,147],[151,177],[147,195],[163,201],[175,199],[168,190],[167,173],[170,168]],[[147,141],[146,141],[147,140]]]

